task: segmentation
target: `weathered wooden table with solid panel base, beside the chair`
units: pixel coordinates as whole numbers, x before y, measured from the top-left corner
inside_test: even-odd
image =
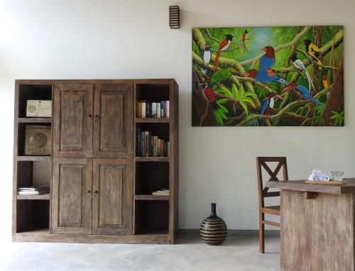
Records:
[[[281,270],[355,269],[355,178],[346,181],[266,182],[281,190]]]

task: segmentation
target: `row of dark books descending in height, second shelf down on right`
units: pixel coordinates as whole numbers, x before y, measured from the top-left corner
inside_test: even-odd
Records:
[[[169,141],[153,136],[150,131],[138,128],[137,155],[139,157],[168,157]]]

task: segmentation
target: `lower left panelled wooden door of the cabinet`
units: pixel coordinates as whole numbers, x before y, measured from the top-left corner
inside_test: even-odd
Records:
[[[92,231],[92,159],[54,158],[52,233]]]

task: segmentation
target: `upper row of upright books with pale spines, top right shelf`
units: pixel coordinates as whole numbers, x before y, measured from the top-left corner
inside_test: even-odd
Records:
[[[138,101],[137,118],[169,118],[169,101]]]

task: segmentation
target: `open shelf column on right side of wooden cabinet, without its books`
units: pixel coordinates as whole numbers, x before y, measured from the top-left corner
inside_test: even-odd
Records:
[[[173,243],[178,227],[178,85],[136,84],[135,106],[142,100],[169,101],[169,118],[135,118],[134,233],[166,234]],[[138,128],[169,141],[168,157],[138,156]],[[170,195],[152,194],[160,189],[169,189]]]

